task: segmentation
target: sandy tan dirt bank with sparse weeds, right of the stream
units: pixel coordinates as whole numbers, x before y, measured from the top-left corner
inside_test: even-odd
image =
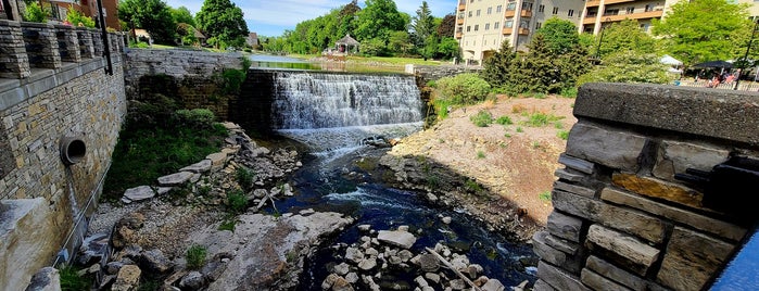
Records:
[[[481,191],[488,199],[477,202],[478,199],[467,198],[466,192],[479,191],[467,191],[477,186],[468,186],[470,182],[465,181],[458,187],[465,193],[460,202],[475,203],[485,216],[496,216],[491,219],[497,218],[502,211],[498,206],[506,206],[509,213],[524,218],[522,223],[532,220],[541,227],[553,211],[549,191],[554,172],[559,168],[559,154],[566,147],[560,135],[566,138],[577,122],[572,115],[573,104],[574,99],[555,96],[545,99],[502,96],[495,102],[455,109],[431,128],[403,139],[388,156],[396,161],[406,159],[407,170],[412,170],[408,160],[416,160],[414,163],[421,167],[416,174],[404,173],[396,177],[399,181],[406,179],[405,182],[434,192],[445,190],[439,186],[443,184],[441,180],[456,175],[469,177],[483,188]],[[489,112],[493,119],[508,116],[511,124],[478,127],[470,117],[480,111]],[[418,179],[407,177],[409,175]]]

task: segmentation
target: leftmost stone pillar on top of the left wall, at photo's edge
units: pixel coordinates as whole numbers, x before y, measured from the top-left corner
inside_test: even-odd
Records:
[[[21,24],[0,20],[0,78],[22,79],[31,75]]]

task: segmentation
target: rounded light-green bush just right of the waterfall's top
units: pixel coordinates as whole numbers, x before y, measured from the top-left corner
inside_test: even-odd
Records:
[[[465,73],[439,79],[438,89],[441,99],[450,100],[453,104],[473,104],[485,100],[491,87],[478,74]]]

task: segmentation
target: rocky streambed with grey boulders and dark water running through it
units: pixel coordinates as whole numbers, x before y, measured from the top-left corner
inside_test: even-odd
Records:
[[[99,207],[75,260],[100,290],[504,290],[534,280],[531,248],[489,235],[503,224],[478,222],[467,198],[384,188],[372,175],[402,172],[362,170],[360,157],[304,167],[304,153],[226,126],[218,153]],[[254,177],[241,182],[241,168]],[[233,192],[246,208],[232,210]]]

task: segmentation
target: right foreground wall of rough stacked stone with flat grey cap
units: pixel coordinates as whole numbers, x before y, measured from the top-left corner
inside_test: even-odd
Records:
[[[534,289],[708,288],[759,217],[735,189],[758,181],[682,174],[759,160],[759,93],[586,84],[574,115],[554,212],[533,237]]]

